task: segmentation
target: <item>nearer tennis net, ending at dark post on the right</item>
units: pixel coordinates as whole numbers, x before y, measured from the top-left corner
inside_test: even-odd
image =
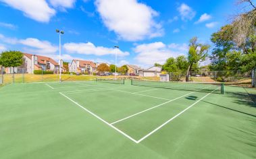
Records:
[[[146,86],[153,88],[165,88],[172,90],[188,90],[195,92],[211,92],[216,94],[224,94],[224,84],[211,82],[159,82],[150,80],[132,79],[134,86]]]

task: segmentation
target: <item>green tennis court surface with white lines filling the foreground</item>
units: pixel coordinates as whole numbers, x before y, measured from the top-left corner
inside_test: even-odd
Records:
[[[256,158],[255,102],[253,88],[210,84],[9,84],[0,158]]]

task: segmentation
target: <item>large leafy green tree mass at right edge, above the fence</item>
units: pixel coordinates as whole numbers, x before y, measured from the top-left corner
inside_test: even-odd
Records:
[[[250,35],[244,44],[236,44],[233,36],[234,26],[231,24],[211,35],[211,42],[215,48],[211,53],[211,65],[209,69],[214,71],[237,71],[247,72],[256,67],[255,57],[256,36]]]

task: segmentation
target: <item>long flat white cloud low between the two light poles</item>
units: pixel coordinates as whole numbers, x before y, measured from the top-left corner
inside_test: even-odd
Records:
[[[95,46],[91,42],[87,43],[66,43],[63,45],[63,48],[70,53],[78,53],[83,55],[117,55],[118,56],[126,56],[129,55],[128,52],[122,52],[120,49],[107,48],[103,46]]]

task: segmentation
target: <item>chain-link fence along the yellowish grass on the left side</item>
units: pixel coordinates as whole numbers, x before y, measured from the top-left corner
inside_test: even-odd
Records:
[[[59,70],[34,70],[26,68],[0,68],[0,84],[28,83],[28,82],[59,82]],[[61,81],[93,80],[93,75],[76,75],[76,73],[61,71]]]

